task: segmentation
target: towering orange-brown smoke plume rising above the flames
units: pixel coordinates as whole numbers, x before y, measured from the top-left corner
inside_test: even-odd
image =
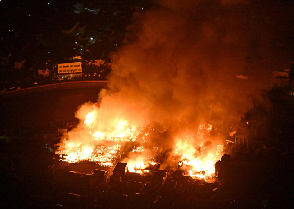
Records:
[[[132,43],[113,54],[117,71],[99,95],[101,110],[114,109],[136,124],[197,130],[199,123],[218,123],[234,109],[232,78],[245,73],[248,53],[244,22],[236,16],[242,7],[232,11],[194,1],[185,9],[173,6],[134,17]],[[246,93],[240,96],[247,99]]]

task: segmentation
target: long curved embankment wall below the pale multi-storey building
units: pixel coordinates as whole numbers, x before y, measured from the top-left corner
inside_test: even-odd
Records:
[[[0,96],[21,96],[30,93],[50,91],[53,89],[72,89],[72,88],[105,88],[108,81],[69,81],[60,83],[51,83],[46,85],[20,88],[16,90],[1,92]]]

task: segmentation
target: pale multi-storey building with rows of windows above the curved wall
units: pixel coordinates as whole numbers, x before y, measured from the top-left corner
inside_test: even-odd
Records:
[[[82,69],[81,56],[72,57],[68,62],[58,63],[58,74],[61,76],[81,76]]]

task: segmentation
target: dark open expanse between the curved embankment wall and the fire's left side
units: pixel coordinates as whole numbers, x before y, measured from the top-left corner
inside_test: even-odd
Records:
[[[76,120],[78,106],[96,102],[100,88],[66,89],[1,98],[1,130],[24,127],[44,132],[51,121],[60,126]]]

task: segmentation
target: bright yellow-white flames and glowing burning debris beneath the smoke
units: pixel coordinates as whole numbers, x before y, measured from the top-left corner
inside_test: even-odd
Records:
[[[149,168],[156,163],[165,163],[169,170],[185,170],[192,178],[203,180],[213,178],[215,163],[222,156],[223,146],[213,147],[209,141],[210,124],[199,126],[197,134],[173,139],[174,149],[165,149],[155,140],[164,141],[165,137],[170,137],[166,130],[158,131],[154,126],[135,127],[117,120],[116,126],[101,132],[96,129],[96,121],[95,110],[87,113],[76,129],[63,135],[55,154],[67,163],[86,160],[108,168],[127,161],[128,172],[143,176],[150,174]],[[84,138],[76,140],[77,134]],[[195,146],[198,141],[202,143]]]

